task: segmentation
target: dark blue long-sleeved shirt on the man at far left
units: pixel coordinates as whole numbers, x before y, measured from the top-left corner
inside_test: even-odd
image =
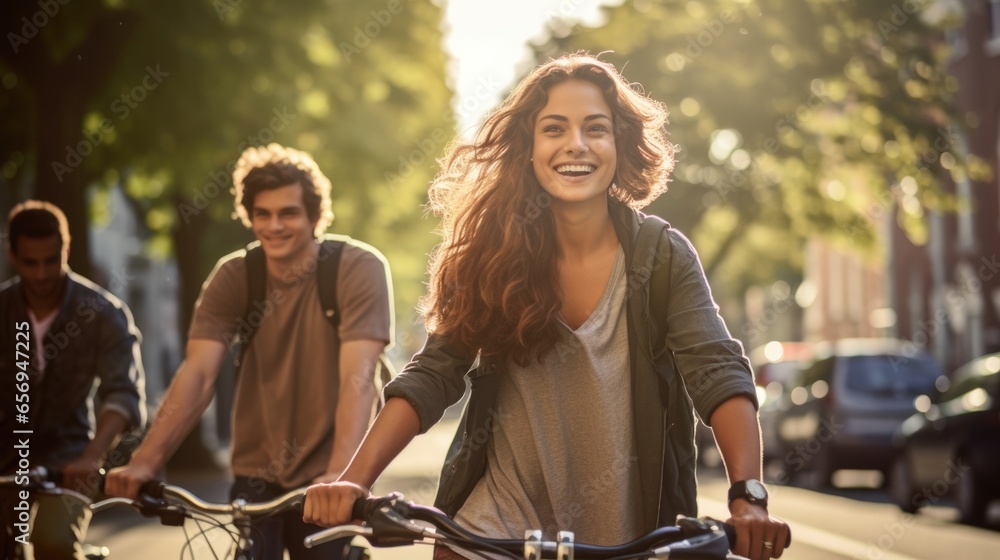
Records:
[[[145,376],[139,354],[139,330],[132,313],[118,298],[86,278],[69,273],[66,293],[44,341],[30,333],[28,423],[17,421],[15,382],[21,361],[17,347],[28,329],[28,307],[14,277],[0,285],[0,431],[32,430],[32,467],[61,467],[77,458],[90,442],[92,418],[105,410],[124,416],[130,428],[145,423]],[[37,345],[43,344],[46,366],[38,381]],[[90,393],[98,381],[93,402]],[[23,399],[23,397],[22,397]],[[0,451],[0,472],[17,464],[16,451]]]

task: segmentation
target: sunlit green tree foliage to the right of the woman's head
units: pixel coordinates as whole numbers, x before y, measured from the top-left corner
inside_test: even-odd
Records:
[[[924,210],[955,204],[941,177],[980,172],[949,129],[970,123],[925,4],[636,0],[596,28],[553,26],[535,52],[613,51],[602,59],[668,105],[681,152],[649,210],[742,293],[800,269],[814,233],[877,249],[891,214],[921,242]]]

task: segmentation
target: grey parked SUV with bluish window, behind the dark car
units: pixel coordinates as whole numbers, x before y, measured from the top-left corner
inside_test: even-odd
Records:
[[[840,469],[876,469],[888,480],[896,430],[914,401],[934,390],[937,364],[910,343],[845,339],[816,346],[816,360],[789,382],[778,417],[784,477],[811,472],[830,486]]]

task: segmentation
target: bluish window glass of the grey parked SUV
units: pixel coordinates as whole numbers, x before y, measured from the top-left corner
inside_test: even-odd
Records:
[[[875,395],[930,394],[940,375],[932,361],[921,357],[853,356],[848,366],[847,388]]]

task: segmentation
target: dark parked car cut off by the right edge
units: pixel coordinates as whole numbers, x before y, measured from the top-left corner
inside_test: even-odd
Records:
[[[948,385],[900,428],[891,494],[907,513],[953,497],[963,522],[981,524],[1000,498],[1000,353],[962,366]]]

